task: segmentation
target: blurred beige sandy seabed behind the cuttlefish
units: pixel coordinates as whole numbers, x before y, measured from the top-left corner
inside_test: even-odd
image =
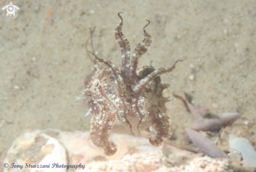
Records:
[[[124,11],[123,33],[131,50],[147,31],[153,45],[139,66],[155,68],[179,63],[161,76],[170,83],[174,136],[183,141],[193,117],[172,93],[190,93],[195,104],[212,113],[241,112],[240,137],[256,148],[256,2],[255,1],[12,1],[15,17],[0,12],[0,171],[13,140],[27,130],[86,131],[90,117],[75,96],[92,70],[85,51],[90,28],[96,26],[94,48],[100,57],[120,66],[113,30]],[[1,1],[1,8],[9,1]],[[248,125],[249,124],[249,125]],[[232,131],[232,126],[226,132]],[[248,127],[249,126],[249,127]]]

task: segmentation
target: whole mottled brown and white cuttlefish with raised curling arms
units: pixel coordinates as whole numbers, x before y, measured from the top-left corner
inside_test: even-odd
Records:
[[[170,112],[165,107],[169,100],[163,97],[163,89],[169,84],[162,84],[160,75],[171,72],[177,60],[171,67],[155,70],[151,63],[137,68],[140,57],[146,53],[152,44],[149,33],[143,27],[144,40],[140,42],[133,53],[130,64],[130,45],[121,29],[123,18],[114,30],[116,42],[121,49],[122,66],[116,68],[109,60],[98,57],[91,53],[99,63],[107,66],[100,69],[95,65],[96,72],[88,84],[88,89],[77,100],[88,100],[87,105],[91,118],[91,139],[99,148],[105,150],[108,156],[117,151],[108,141],[110,132],[118,134],[140,133],[141,130],[150,126],[157,131],[154,138],[149,142],[153,146],[161,146],[163,142],[172,136],[172,123]]]

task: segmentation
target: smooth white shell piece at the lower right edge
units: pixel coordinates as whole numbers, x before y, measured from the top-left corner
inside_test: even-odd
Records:
[[[242,154],[244,167],[256,167],[256,151],[248,139],[230,137],[229,145]]]

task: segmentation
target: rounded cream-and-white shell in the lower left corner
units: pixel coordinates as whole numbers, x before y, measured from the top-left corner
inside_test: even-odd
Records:
[[[56,139],[39,130],[25,133],[18,137],[7,152],[4,163],[9,167],[4,172],[12,171],[41,171],[64,172],[66,168],[51,168],[53,163],[67,165],[66,149]],[[19,168],[11,168],[11,165],[19,165]],[[29,165],[44,165],[41,168],[32,168]],[[48,167],[46,165],[49,165]],[[35,166],[36,167],[36,166]]]

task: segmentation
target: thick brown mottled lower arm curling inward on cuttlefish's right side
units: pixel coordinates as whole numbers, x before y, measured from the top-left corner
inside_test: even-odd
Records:
[[[149,109],[149,122],[153,129],[157,131],[154,138],[149,138],[149,142],[153,146],[161,146],[165,140],[172,136],[172,122],[168,109],[152,104]]]

